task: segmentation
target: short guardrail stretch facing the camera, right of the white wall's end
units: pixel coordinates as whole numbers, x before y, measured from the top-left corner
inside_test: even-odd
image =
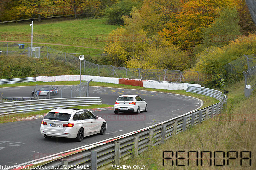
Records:
[[[224,96],[223,96],[222,92],[220,92],[218,90],[209,89],[209,88],[187,86],[186,92],[192,92],[192,93],[198,93],[198,94],[205,95],[205,96],[210,96],[219,101],[224,100]]]

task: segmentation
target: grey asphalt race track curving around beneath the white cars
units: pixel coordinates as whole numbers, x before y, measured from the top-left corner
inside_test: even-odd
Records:
[[[0,88],[0,94],[3,94],[3,97],[30,97],[33,89],[34,86]],[[0,165],[18,165],[113,138],[177,117],[201,106],[200,100],[189,96],[108,87],[90,86],[89,89],[90,97],[101,97],[103,104],[111,105],[120,95],[139,95],[146,99],[148,112],[141,112],[139,115],[133,113],[115,115],[113,110],[94,112],[95,115],[106,119],[107,131],[104,135],[85,137],[82,142],[75,142],[70,138],[44,138],[40,134],[41,118],[0,124]],[[54,97],[60,97],[60,93]],[[63,97],[70,95],[63,93]]]

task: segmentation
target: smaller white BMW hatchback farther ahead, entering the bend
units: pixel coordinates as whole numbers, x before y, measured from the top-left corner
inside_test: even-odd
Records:
[[[119,96],[114,105],[115,114],[118,114],[118,112],[136,112],[137,114],[140,114],[140,111],[146,112],[147,110],[147,102],[137,95]]]

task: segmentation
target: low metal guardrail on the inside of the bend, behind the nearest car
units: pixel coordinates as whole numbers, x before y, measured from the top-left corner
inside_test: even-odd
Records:
[[[40,99],[31,101],[4,102],[0,103],[0,115],[11,113],[25,113],[36,110],[52,109],[56,107],[73,107],[92,104],[102,104],[100,97],[76,97],[76,98],[56,98]]]

